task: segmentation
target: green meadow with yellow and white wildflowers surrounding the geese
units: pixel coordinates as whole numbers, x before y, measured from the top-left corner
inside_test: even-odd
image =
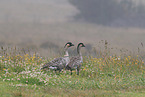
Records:
[[[17,48],[1,48],[1,97],[144,97],[145,65],[140,55],[84,56],[80,75],[42,71],[52,60]]]

